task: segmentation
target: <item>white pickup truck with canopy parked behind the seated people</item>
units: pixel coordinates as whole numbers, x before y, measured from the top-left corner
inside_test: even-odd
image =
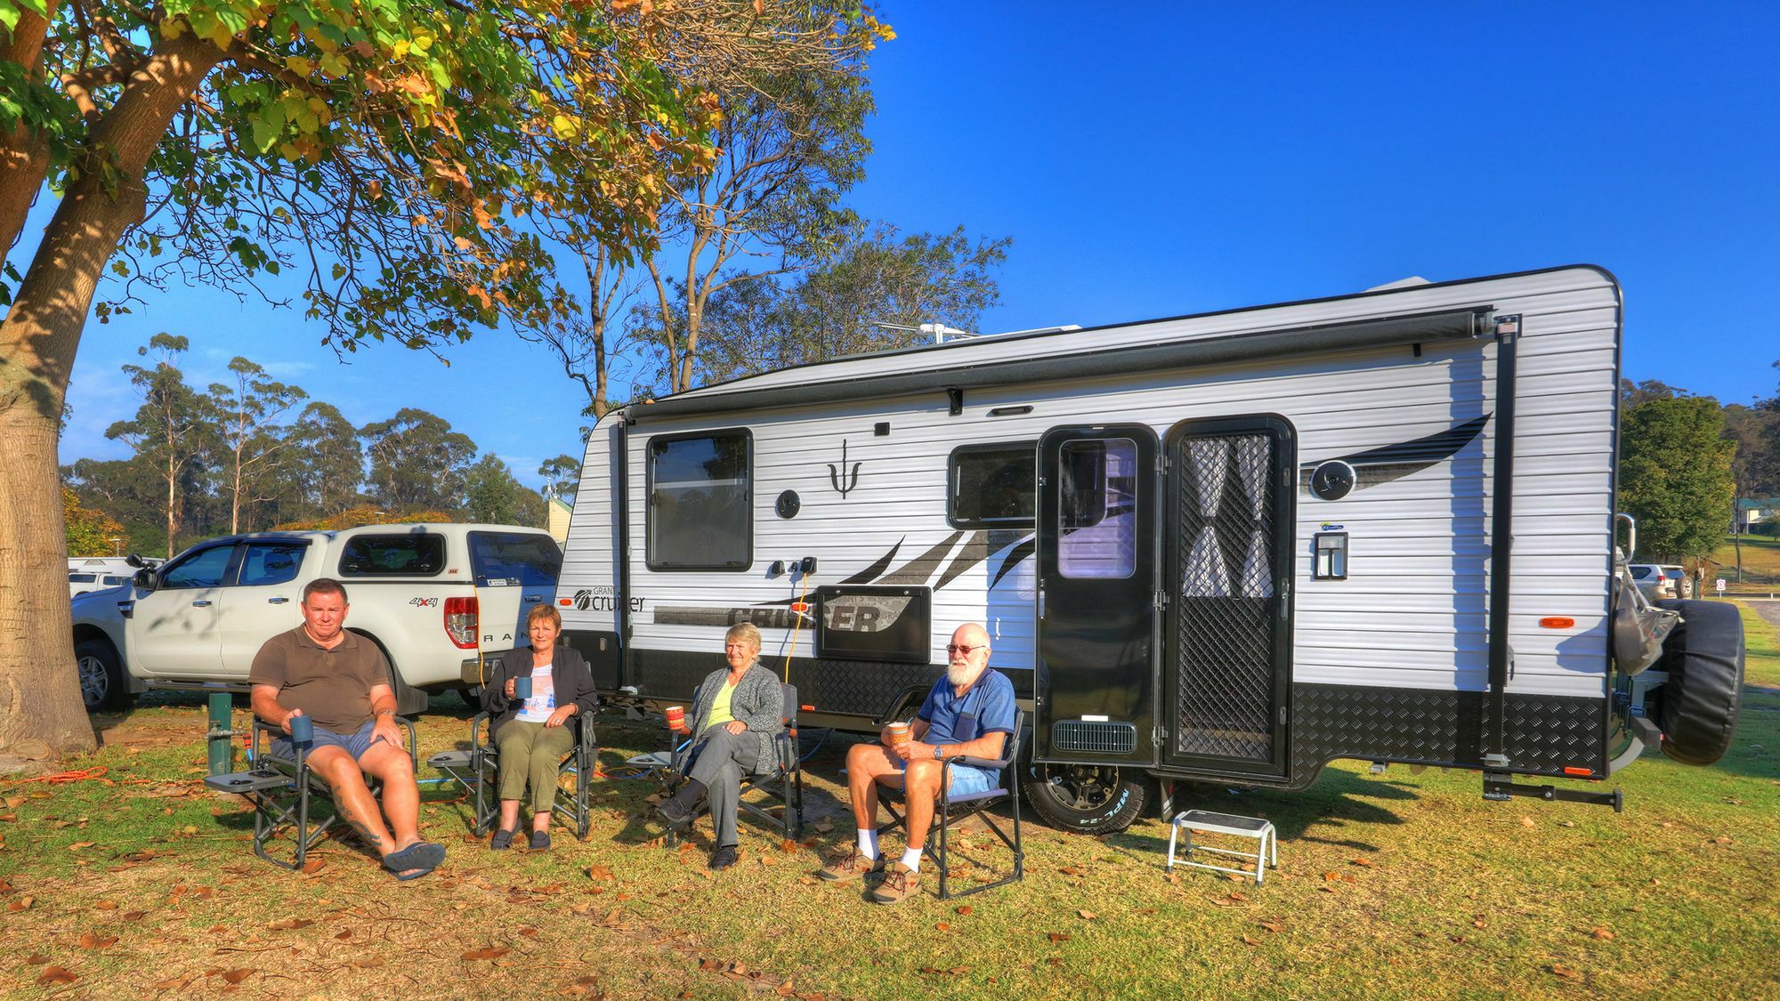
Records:
[[[87,709],[153,686],[242,684],[267,638],[295,627],[303,586],[333,577],[345,627],[395,673],[400,712],[427,693],[473,689],[484,661],[525,645],[525,614],[555,595],[562,550],[518,525],[365,525],[201,541],[128,586],[73,602]]]

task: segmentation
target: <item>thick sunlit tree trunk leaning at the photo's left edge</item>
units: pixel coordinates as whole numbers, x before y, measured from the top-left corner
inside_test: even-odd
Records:
[[[87,169],[68,191],[0,322],[0,750],[91,752],[69,643],[68,541],[57,424],[75,347],[105,262],[146,205],[142,167],[192,89],[222,57],[190,36],[162,43],[91,134],[114,155],[117,196]],[[11,207],[7,207],[11,208]]]

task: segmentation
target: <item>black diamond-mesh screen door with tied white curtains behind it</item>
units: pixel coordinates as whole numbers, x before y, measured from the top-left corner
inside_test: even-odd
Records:
[[[1278,417],[1168,433],[1162,764],[1283,777],[1294,442]]]

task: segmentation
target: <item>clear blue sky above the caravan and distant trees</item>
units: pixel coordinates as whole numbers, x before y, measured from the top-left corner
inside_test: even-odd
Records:
[[[1780,7],[1766,4],[881,5],[878,116],[851,203],[902,230],[1013,237],[983,330],[1105,324],[1410,274],[1600,264],[1625,374],[1773,395],[1780,335]],[[119,365],[192,338],[205,385],[246,354],[358,422],[443,415],[525,483],[578,454],[578,387],[504,333],[447,353],[320,331],[176,289],[89,322],[62,460],[123,454]]]

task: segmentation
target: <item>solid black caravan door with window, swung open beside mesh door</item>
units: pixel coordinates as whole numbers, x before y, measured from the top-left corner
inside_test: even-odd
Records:
[[[1155,452],[1139,424],[1038,442],[1040,761],[1155,764]]]

